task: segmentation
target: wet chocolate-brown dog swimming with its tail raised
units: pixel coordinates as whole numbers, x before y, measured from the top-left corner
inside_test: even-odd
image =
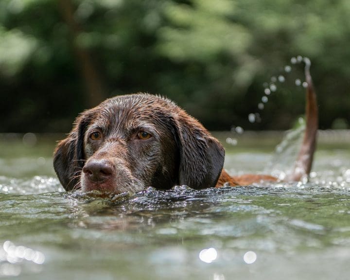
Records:
[[[307,128],[295,172],[308,175],[315,151],[317,106],[306,72]],[[277,180],[269,175],[229,176],[225,151],[201,123],[166,98],[139,93],[107,99],[83,112],[58,143],[54,169],[66,190],[138,192],[148,186],[193,189]]]

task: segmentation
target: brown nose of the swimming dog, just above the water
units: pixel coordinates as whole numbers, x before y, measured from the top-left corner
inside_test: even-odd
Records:
[[[94,183],[103,183],[112,177],[113,164],[105,159],[94,159],[87,162],[83,167],[85,176]]]

